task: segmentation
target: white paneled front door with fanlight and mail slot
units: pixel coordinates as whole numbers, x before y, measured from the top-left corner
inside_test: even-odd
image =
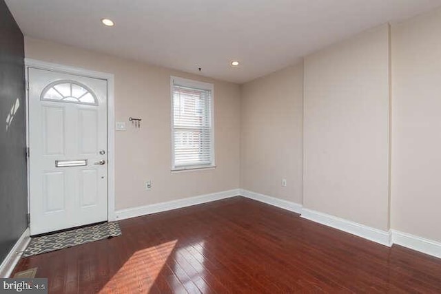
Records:
[[[30,233],[107,220],[107,81],[28,68]]]

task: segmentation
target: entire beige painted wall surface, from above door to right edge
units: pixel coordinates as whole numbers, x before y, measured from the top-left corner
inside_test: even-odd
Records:
[[[439,36],[441,9],[393,25],[392,34],[387,25],[369,30],[241,87],[37,39],[25,38],[25,54],[113,73],[116,120],[143,118],[141,129],[116,132],[117,209],[241,187],[441,242],[434,225],[441,222]],[[170,172],[170,75],[214,83],[216,169]],[[152,191],[143,189],[148,179]]]

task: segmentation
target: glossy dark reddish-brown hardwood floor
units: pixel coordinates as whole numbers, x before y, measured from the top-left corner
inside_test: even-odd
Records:
[[[441,293],[441,260],[236,197],[120,222],[25,258],[50,293]]]

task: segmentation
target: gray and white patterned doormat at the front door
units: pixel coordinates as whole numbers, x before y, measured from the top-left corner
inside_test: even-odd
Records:
[[[121,234],[118,222],[105,222],[91,227],[83,227],[51,235],[43,235],[31,239],[28,248],[23,253],[23,258],[116,237]]]

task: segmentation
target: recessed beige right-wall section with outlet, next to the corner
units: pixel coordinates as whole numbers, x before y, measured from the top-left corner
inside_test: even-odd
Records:
[[[302,99],[302,63],[242,85],[241,188],[302,203]]]

